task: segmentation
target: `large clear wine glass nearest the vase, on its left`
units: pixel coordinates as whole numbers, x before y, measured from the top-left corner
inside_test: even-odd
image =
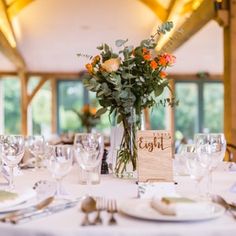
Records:
[[[90,173],[101,163],[104,141],[100,133],[80,133],[74,139],[75,156],[80,167],[86,171],[87,185],[90,185]]]

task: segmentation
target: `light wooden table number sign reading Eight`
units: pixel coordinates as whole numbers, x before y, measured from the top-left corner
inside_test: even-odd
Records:
[[[171,140],[171,134],[168,131],[138,131],[137,148],[139,182],[173,181]]]

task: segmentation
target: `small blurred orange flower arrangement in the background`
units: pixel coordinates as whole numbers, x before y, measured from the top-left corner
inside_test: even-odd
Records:
[[[97,109],[91,107],[89,104],[85,104],[79,112],[75,109],[73,109],[73,111],[79,117],[81,124],[87,133],[91,132],[92,128],[100,121],[99,117],[96,116]]]

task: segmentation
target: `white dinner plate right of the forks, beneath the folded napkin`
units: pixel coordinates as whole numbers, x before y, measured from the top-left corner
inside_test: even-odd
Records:
[[[139,219],[173,222],[210,220],[224,214],[225,209],[222,206],[211,202],[207,204],[209,204],[207,209],[210,208],[210,211],[208,210],[204,214],[194,214],[194,212],[190,212],[189,215],[184,216],[163,215],[153,209],[150,205],[150,200],[147,199],[127,200],[119,206],[119,210],[123,214]]]

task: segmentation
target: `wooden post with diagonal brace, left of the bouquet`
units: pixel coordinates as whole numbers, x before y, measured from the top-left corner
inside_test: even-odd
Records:
[[[19,72],[19,77],[21,81],[21,134],[27,136],[27,108],[28,108],[28,93],[27,84],[28,77],[24,71]]]

